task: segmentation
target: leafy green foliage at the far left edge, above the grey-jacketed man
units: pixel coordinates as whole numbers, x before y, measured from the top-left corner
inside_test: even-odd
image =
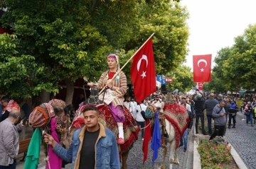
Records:
[[[11,97],[30,97],[30,81],[35,58],[17,51],[16,35],[0,35],[0,93]]]

